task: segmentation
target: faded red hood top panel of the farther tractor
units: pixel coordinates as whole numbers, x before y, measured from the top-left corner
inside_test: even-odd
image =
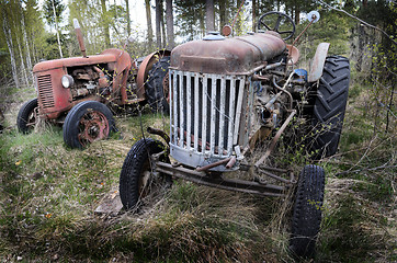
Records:
[[[61,58],[55,60],[48,60],[38,62],[33,67],[33,72],[39,72],[44,70],[63,68],[63,67],[75,67],[75,66],[86,66],[86,65],[97,65],[104,62],[115,62],[120,56],[127,54],[121,49],[111,48],[106,49],[100,55],[89,56],[89,57],[72,57],[72,58]],[[129,55],[128,55],[129,57]]]

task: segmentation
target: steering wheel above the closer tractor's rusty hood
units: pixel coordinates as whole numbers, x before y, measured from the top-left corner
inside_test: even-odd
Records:
[[[287,34],[287,36],[283,38],[284,41],[290,39],[295,33],[295,23],[291,16],[277,11],[268,12],[259,18],[258,30],[263,30],[263,27],[268,31],[277,32],[280,35]],[[288,30],[291,27],[292,30]]]

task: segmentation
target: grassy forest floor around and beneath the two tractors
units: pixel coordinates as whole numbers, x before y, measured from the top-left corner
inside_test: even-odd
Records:
[[[141,119],[117,116],[120,134],[76,150],[65,146],[60,127],[18,133],[18,111],[33,96],[34,90],[26,89],[2,102],[2,262],[293,261],[287,252],[291,198],[175,180],[138,214],[95,214],[103,198],[117,191],[124,158],[141,137],[140,124],[168,129],[167,117],[148,110]],[[327,184],[310,262],[397,262],[396,134],[373,125],[366,101],[367,93],[353,87],[339,153],[318,163]],[[283,158],[294,161],[296,173],[307,161]]]

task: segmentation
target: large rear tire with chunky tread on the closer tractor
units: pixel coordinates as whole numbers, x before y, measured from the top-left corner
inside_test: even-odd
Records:
[[[313,159],[333,156],[342,132],[350,81],[349,59],[327,57],[313,107]]]

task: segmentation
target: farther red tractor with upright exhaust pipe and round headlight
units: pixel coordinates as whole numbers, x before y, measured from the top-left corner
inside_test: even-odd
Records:
[[[83,148],[115,129],[109,106],[148,102],[154,110],[167,110],[162,84],[170,52],[157,52],[138,61],[116,48],[87,56],[80,26],[73,22],[82,57],[34,66],[37,98],[21,107],[16,119],[20,132],[30,132],[38,118],[48,119],[64,125],[68,146]]]

